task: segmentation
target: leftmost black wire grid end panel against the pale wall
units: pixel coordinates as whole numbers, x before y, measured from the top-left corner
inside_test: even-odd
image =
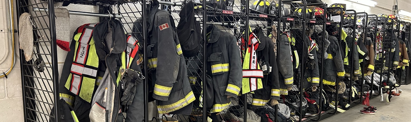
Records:
[[[23,50],[20,50],[22,67],[23,111],[25,122],[57,121],[58,109],[58,66],[55,45],[55,28],[53,11],[35,12],[33,8],[53,8],[53,1],[17,0],[18,15],[31,14],[34,36],[34,55],[25,61]],[[43,64],[44,63],[44,64]]]

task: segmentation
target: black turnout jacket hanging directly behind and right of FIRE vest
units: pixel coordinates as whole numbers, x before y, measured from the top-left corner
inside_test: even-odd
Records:
[[[264,35],[262,29],[257,28],[254,34],[259,37],[260,44],[257,48],[257,60],[264,71],[262,79],[263,88],[255,90],[252,99],[252,106],[261,107],[266,105],[270,99],[280,99],[277,59],[274,52],[274,43]]]

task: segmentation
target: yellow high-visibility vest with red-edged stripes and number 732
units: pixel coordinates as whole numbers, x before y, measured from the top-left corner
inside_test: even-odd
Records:
[[[100,61],[92,37],[96,25],[97,23],[89,23],[77,28],[77,34],[73,38],[74,58],[65,84],[70,92],[87,102],[91,102],[92,99]]]

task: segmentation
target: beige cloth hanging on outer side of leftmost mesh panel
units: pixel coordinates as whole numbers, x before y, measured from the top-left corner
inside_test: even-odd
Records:
[[[26,61],[30,61],[33,55],[33,26],[30,17],[30,14],[23,13],[18,19],[18,43],[19,48],[24,51]]]

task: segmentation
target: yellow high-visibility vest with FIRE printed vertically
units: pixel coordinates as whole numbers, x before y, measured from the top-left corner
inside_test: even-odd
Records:
[[[257,36],[250,29],[250,35],[248,36],[248,42],[245,42],[244,38],[240,38],[240,42],[247,47],[240,46],[242,52],[242,94],[252,92],[254,90],[263,88],[263,70],[261,70],[257,61],[257,48],[260,41]]]

